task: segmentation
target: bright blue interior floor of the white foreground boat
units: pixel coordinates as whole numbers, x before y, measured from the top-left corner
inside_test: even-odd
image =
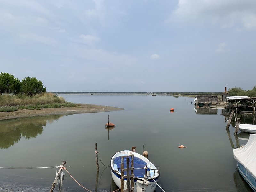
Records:
[[[128,157],[127,157],[128,158]],[[129,157],[129,167],[131,167],[131,156]],[[143,169],[145,166],[147,165],[147,163],[145,161],[143,161],[142,159],[138,158],[138,157],[134,157],[133,159],[133,166],[134,166],[134,170],[133,170],[133,174],[134,177],[141,177],[143,178],[145,175],[145,169]],[[118,170],[121,172],[121,156],[116,157],[113,160],[113,167],[114,169]],[[124,169],[127,168],[127,163],[126,163],[126,158],[124,158]],[[141,168],[141,169],[138,169]],[[131,172],[130,172],[131,174]],[[124,175],[127,175],[127,172],[124,172]]]

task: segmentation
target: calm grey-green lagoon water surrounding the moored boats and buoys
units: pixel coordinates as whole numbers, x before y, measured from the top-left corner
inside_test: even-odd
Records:
[[[60,95],[69,102],[125,108],[123,111],[0,121],[0,167],[48,167],[66,160],[67,170],[85,188],[117,189],[108,165],[114,153],[136,147],[160,168],[167,191],[251,191],[237,171],[232,149],[247,134],[229,131],[229,113],[194,108],[194,98],[151,95]],[[171,113],[170,108],[175,112]],[[105,123],[116,124],[107,130]],[[241,123],[253,123],[241,116]],[[100,172],[96,185],[95,143]],[[177,148],[185,145],[187,148]],[[56,168],[0,169],[0,184],[40,186],[49,191]],[[0,185],[0,187],[1,187]],[[64,191],[84,191],[66,172]],[[57,188],[55,189],[57,191]],[[156,191],[162,191],[156,187]]]

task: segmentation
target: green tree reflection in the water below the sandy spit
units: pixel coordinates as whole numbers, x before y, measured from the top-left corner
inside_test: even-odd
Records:
[[[21,137],[35,138],[42,134],[47,122],[52,123],[63,115],[29,117],[0,121],[0,149],[7,149],[17,143]]]

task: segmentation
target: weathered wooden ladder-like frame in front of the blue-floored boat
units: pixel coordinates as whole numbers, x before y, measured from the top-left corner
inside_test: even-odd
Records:
[[[132,162],[131,162],[131,167],[129,167],[129,156],[131,156]],[[126,158],[126,164],[127,168],[124,169],[124,158]],[[133,174],[133,160],[134,160],[134,155],[126,155],[126,156],[121,156],[121,192],[134,192],[134,174]],[[127,172],[127,175],[124,175],[124,172]],[[131,171],[131,174],[130,174]],[[127,189],[124,190],[124,179],[127,179]],[[128,182],[130,180],[130,182]]]

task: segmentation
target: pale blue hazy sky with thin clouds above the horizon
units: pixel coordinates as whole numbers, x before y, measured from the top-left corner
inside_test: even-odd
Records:
[[[1,0],[0,72],[67,92],[256,85],[255,0]]]

